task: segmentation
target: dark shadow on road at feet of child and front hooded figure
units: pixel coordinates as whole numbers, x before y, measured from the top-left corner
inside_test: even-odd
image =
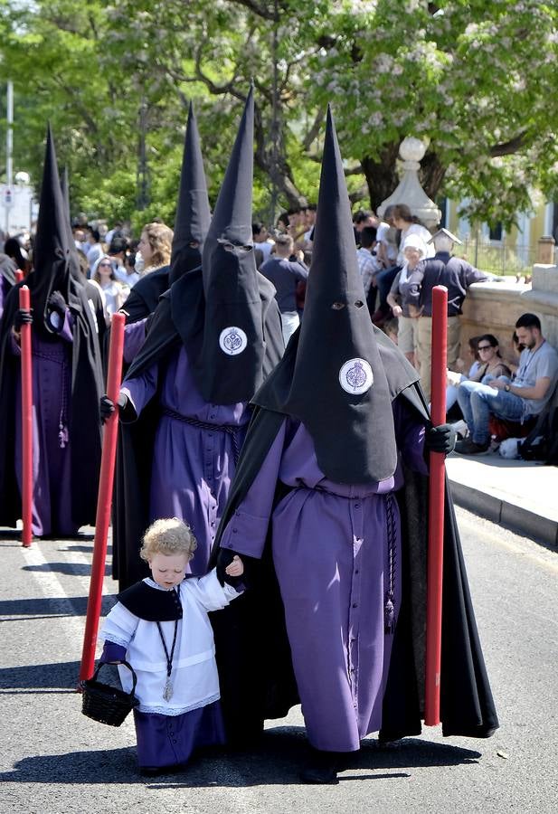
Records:
[[[102,734],[99,734],[99,739],[101,737]],[[307,741],[303,727],[279,727],[267,730],[258,747],[250,751],[200,755],[184,769],[157,778],[147,779],[139,775],[136,750],[130,747],[26,757],[15,764],[13,771],[0,774],[0,781],[61,784],[126,782],[147,784],[154,790],[290,785],[298,782],[298,771],[306,755]],[[383,749],[374,741],[365,741],[361,751],[355,753],[355,760],[348,771],[342,772],[339,779],[405,778],[411,776],[413,768],[474,765],[479,757],[480,752],[417,738],[409,738],[395,749]],[[366,774],[349,773],[354,770],[365,770]]]

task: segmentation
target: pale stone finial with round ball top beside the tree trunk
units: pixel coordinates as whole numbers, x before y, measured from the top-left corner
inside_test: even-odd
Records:
[[[386,208],[393,204],[407,204],[411,213],[420,218],[430,230],[434,229],[441,219],[440,209],[424,192],[419,181],[421,160],[426,153],[426,146],[420,138],[407,136],[399,147],[403,162],[403,174],[395,192],[378,206],[378,214],[383,215]]]

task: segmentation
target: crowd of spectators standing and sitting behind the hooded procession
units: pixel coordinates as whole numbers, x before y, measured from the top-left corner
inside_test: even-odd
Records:
[[[256,264],[277,290],[285,344],[304,312],[316,219],[316,205],[308,204],[281,213],[274,226],[255,218],[252,222]],[[388,206],[382,217],[359,209],[353,222],[356,261],[371,319],[417,368],[427,400],[431,290],[440,284],[449,289],[447,409],[449,420],[455,420],[465,436],[458,450],[478,454],[494,448],[495,440],[506,435],[525,436],[552,402],[558,382],[558,355],[544,340],[538,318],[526,314],[517,322],[518,364],[502,358],[498,337],[489,333],[469,340],[471,358],[464,362],[463,302],[468,287],[490,275],[455,256],[458,238],[445,229],[432,235],[406,204]],[[170,262],[173,232],[159,219],[146,224],[139,240],[132,238],[126,223],[116,222],[108,230],[102,222],[88,224],[83,217],[72,223],[72,232],[81,269],[99,289],[108,325],[137,280]],[[4,251],[24,274],[32,268],[29,235],[6,240]]]

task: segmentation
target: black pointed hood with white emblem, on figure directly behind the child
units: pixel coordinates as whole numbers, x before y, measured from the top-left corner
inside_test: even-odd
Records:
[[[263,310],[270,287],[261,284],[252,246],[253,128],[251,89],[203,245],[203,327],[191,361],[203,398],[216,404],[248,402],[263,381]],[[173,319],[184,341],[193,331],[184,329],[177,303],[173,298]]]

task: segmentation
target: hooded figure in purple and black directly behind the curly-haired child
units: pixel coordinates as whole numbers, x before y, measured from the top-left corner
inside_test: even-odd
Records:
[[[200,164],[197,190],[205,186],[201,172]],[[178,275],[160,299],[122,385],[113,513],[113,575],[121,588],[145,575],[140,538],[159,516],[191,525],[198,548],[190,568],[206,571],[248,402],[283,351],[275,289],[253,256],[252,173],[251,91],[203,242],[203,268]],[[176,223],[175,271],[189,262],[191,238],[203,241],[188,221],[200,213],[195,194],[181,194],[179,213],[186,223]]]

